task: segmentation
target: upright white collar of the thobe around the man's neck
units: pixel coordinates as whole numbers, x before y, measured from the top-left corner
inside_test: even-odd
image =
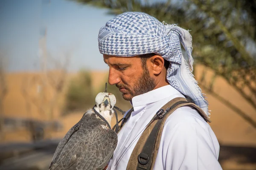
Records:
[[[165,85],[152,91],[148,91],[147,93],[134,96],[132,98],[132,105],[134,107],[134,111],[138,106],[148,105],[150,103],[165,99],[166,97],[172,96],[174,94],[180,94],[180,92],[173,88],[171,85]]]

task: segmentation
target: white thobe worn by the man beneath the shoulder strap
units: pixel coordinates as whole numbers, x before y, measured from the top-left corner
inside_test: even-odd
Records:
[[[134,111],[118,133],[118,144],[108,170],[125,170],[141,133],[167,102],[184,97],[171,85],[135,96]],[[154,170],[221,170],[219,143],[199,113],[184,106],[175,110],[163,127]]]

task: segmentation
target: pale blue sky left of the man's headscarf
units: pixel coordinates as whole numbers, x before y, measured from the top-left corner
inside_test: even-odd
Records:
[[[47,50],[60,60],[71,53],[70,71],[107,70],[97,36],[111,18],[106,9],[67,0],[1,0],[0,53],[7,57],[8,71],[37,70],[39,39],[47,28]]]

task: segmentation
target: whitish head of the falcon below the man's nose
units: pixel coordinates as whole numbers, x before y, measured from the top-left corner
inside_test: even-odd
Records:
[[[111,93],[99,93],[95,98],[96,108],[99,109],[99,113],[103,112],[109,113],[109,115],[113,116],[113,107],[116,104],[116,97]],[[102,115],[104,116],[104,115]]]

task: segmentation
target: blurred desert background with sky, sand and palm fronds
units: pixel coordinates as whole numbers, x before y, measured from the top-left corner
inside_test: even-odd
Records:
[[[191,30],[218,160],[224,170],[256,170],[256,0],[0,0],[0,169],[48,168],[105,90],[98,31],[125,11]],[[108,91],[131,108],[115,86]]]

